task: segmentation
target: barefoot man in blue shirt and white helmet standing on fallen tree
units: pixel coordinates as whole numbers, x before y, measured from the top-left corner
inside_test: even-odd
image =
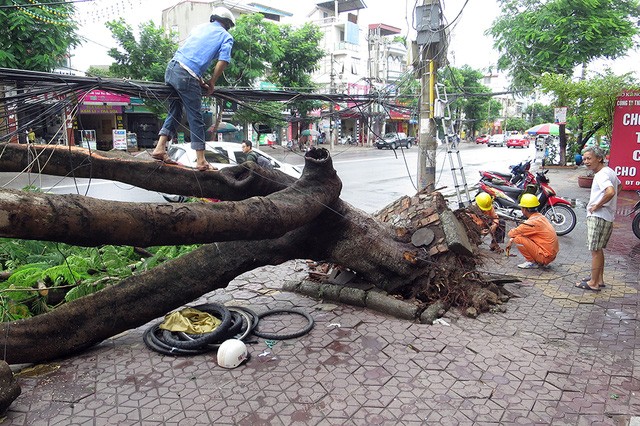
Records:
[[[166,153],[167,142],[176,136],[184,106],[191,131],[191,148],[196,151],[197,156],[196,167],[200,171],[215,170],[204,157],[202,89],[207,95],[211,95],[218,78],[229,65],[233,37],[228,31],[235,23],[236,20],[229,9],[214,8],[210,22],[194,28],[167,65],[164,75],[165,83],[176,90],[179,99],[172,100],[169,105],[167,119],[159,132],[158,144],[151,154],[154,159],[167,164],[176,164]],[[213,74],[208,81],[205,81],[203,76],[214,60],[218,62],[213,69]]]

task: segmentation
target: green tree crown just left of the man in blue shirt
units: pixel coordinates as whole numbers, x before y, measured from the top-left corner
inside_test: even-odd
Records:
[[[110,21],[105,25],[120,46],[109,49],[109,56],[115,59],[115,63],[109,68],[112,76],[164,81],[167,63],[178,47],[170,35],[167,36],[152,21],[140,24],[139,40],[136,40],[131,26],[123,19]]]

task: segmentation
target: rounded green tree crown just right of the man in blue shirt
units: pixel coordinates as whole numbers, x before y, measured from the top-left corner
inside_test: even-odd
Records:
[[[259,13],[241,15],[231,35],[234,41],[231,63],[224,72],[226,85],[252,87],[267,74],[271,63],[283,57],[278,26]]]

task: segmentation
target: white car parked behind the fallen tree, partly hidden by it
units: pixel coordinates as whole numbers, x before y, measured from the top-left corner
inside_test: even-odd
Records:
[[[258,156],[266,158],[275,170],[280,170],[282,173],[296,179],[302,176],[302,168],[299,166],[276,160],[256,148],[253,148],[253,152]],[[167,149],[167,154],[172,160],[177,161],[183,166],[196,167],[196,151],[191,148],[190,143],[171,144]],[[245,160],[245,154],[242,152],[242,144],[234,142],[205,142],[204,157],[217,169],[236,166]],[[162,194],[162,196],[165,200],[172,203],[181,203],[188,198],[182,195],[171,194]]]

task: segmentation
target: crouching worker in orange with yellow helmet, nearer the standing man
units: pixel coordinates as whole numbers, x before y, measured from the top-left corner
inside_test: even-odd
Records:
[[[507,244],[507,256],[515,243],[526,262],[518,265],[522,269],[536,269],[553,262],[560,251],[556,230],[549,220],[538,212],[540,201],[533,194],[520,197],[520,210],[524,222],[509,231],[511,240]]]

